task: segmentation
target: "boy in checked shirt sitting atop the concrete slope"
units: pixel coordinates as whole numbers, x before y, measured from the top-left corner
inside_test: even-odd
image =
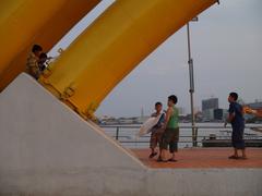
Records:
[[[40,75],[38,63],[41,51],[43,48],[39,45],[34,45],[26,62],[26,72],[35,79],[38,79]]]

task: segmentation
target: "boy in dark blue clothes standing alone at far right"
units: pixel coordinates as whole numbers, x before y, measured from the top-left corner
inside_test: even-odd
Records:
[[[231,123],[233,134],[231,143],[234,147],[234,155],[229,159],[247,159],[246,147],[243,140],[245,119],[242,106],[237,102],[238,94],[230,93],[228,97],[229,101],[229,117],[227,122]],[[226,124],[225,124],[226,125]],[[242,157],[238,156],[238,150],[242,151]]]

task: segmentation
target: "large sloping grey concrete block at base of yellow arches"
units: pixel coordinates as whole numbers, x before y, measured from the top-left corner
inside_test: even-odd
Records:
[[[130,151],[27,74],[0,94],[0,192],[104,192],[119,185],[115,177],[130,172],[135,179],[144,169]],[[123,182],[130,186],[134,179]]]

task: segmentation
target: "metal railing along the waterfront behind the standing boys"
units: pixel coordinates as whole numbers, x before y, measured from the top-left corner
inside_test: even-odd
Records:
[[[116,140],[121,144],[130,144],[132,146],[136,146],[138,144],[148,144],[151,135],[147,134],[140,138],[135,137],[135,134],[139,132],[141,125],[100,125],[105,132],[111,137],[116,138]],[[262,139],[262,133],[254,132],[251,128],[258,127],[262,128],[262,126],[246,126],[245,139]],[[192,145],[193,147],[202,144],[202,140],[205,138],[212,137],[212,132],[215,132],[216,139],[230,139],[231,128],[230,126],[194,126],[195,135],[192,135],[192,126],[179,126],[180,144],[187,144],[187,146]],[[252,133],[250,133],[252,132]]]

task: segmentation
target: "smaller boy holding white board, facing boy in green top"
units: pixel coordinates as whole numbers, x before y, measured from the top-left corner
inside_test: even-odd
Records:
[[[162,113],[162,109],[163,109],[162,102],[156,102],[155,103],[156,112],[151,115],[151,117],[160,115],[160,119],[157,122],[157,124],[151,130],[151,140],[150,140],[151,155],[150,155],[150,158],[153,158],[157,155],[157,152],[155,151],[155,148],[157,147],[157,144],[160,143],[162,135],[164,133],[163,124],[165,121],[165,113]]]

